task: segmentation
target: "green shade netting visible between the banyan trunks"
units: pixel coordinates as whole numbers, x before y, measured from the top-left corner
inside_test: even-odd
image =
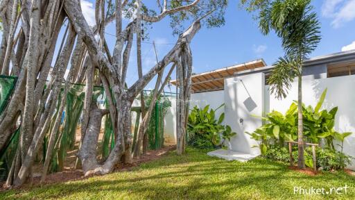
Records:
[[[17,77],[14,76],[0,76],[0,114],[6,108],[8,101],[11,97]],[[64,85],[63,85],[64,86]],[[53,149],[49,172],[58,172],[64,167],[64,158],[67,156],[69,150],[75,149],[76,133],[80,131],[80,119],[83,113],[84,99],[85,99],[85,85],[71,84],[69,92],[67,94],[67,104],[65,105],[64,112],[58,113],[60,109],[60,99],[62,99],[63,88],[58,98],[55,115],[52,119],[55,119],[57,115],[61,116],[61,126],[56,134],[55,147]],[[151,92],[151,91],[150,91]],[[150,93],[152,94],[152,93]],[[146,99],[149,99],[150,95],[146,94]],[[96,99],[100,108],[108,108],[106,94],[103,87],[95,86],[93,92],[93,98]],[[149,100],[148,100],[149,101]],[[148,102],[147,102],[148,103]],[[148,105],[148,104],[146,104]],[[171,106],[170,101],[158,100],[153,109],[152,117],[150,117],[148,127],[148,148],[159,149],[164,144],[164,115],[166,108]],[[136,121],[134,123],[134,142],[137,140],[137,132],[139,122],[141,118],[140,107],[132,108],[132,112],[137,113]],[[157,113],[157,114],[156,114]],[[50,129],[53,128],[55,120],[52,120]],[[103,140],[101,148],[101,156],[103,159],[107,158],[111,149],[114,147],[114,131],[110,115],[105,115],[103,118]],[[50,131],[49,131],[50,132]],[[16,149],[19,143],[20,128],[14,130],[10,140],[6,144],[6,148],[0,151],[0,162],[3,163],[0,168],[0,179],[4,180],[12,165],[12,160],[15,157]],[[46,151],[49,142],[49,133],[44,137],[42,146],[42,162],[46,156]],[[133,145],[134,147],[134,145]]]

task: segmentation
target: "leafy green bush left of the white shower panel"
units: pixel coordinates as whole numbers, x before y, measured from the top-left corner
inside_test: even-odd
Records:
[[[224,106],[222,104],[216,110]],[[193,107],[189,114],[187,131],[189,134],[189,145],[200,149],[211,149],[220,147],[225,140],[230,140],[236,133],[232,132],[230,126],[222,124],[225,114],[222,113],[218,120],[215,119],[216,110],[209,109],[209,105],[200,109]],[[220,141],[222,136],[223,141]]]

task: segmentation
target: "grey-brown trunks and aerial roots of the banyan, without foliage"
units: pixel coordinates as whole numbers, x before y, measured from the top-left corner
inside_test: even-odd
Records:
[[[21,9],[18,10],[17,2],[21,3]],[[132,158],[131,147],[132,135],[131,128],[131,107],[134,99],[141,94],[142,113],[145,113],[144,105],[144,88],[157,75],[160,84],[164,67],[171,63],[180,62],[180,67],[184,74],[182,81],[189,81],[189,62],[190,58],[187,49],[194,35],[200,29],[200,19],[193,22],[187,30],[180,34],[175,46],[166,53],[166,56],[156,65],[154,65],[148,73],[143,74],[141,67],[141,23],[159,22],[164,17],[182,10],[189,10],[196,6],[198,0],[191,3],[184,3],[185,6],[178,8],[170,8],[168,2],[164,2],[164,8],[161,7],[161,13],[156,16],[148,16],[143,3],[136,1],[137,7],[132,6],[131,1],[123,0],[116,1],[115,12],[105,16],[105,0],[96,1],[96,26],[89,27],[83,11],[80,9],[80,1],[78,0],[3,0],[0,3],[0,15],[3,19],[3,38],[0,49],[0,72],[3,74],[11,74],[18,76],[15,90],[12,97],[8,100],[9,103],[0,115],[0,149],[10,138],[14,124],[21,117],[21,135],[17,155],[10,168],[7,185],[19,186],[28,180],[31,176],[33,163],[42,146],[43,138],[51,128],[48,150],[43,168],[42,181],[46,178],[53,150],[58,149],[62,132],[58,136],[58,141],[55,142],[56,133],[60,128],[60,118],[66,100],[66,93],[69,81],[76,83],[87,82],[87,90],[85,94],[85,109],[84,122],[82,126],[82,145],[80,147],[79,156],[83,162],[85,175],[89,174],[107,174],[112,172],[116,163],[120,159],[130,163]],[[111,2],[111,1],[110,1]],[[109,3],[110,4],[110,3]],[[137,11],[137,19],[122,30],[122,10],[132,8]],[[144,8],[144,9],[143,9]],[[109,9],[107,9],[109,10]],[[152,13],[150,13],[153,15]],[[60,47],[62,51],[58,51],[55,61],[55,66],[52,72],[51,63],[53,61],[55,46],[59,44],[58,35],[64,25],[64,18],[68,17],[69,23],[67,26],[69,36],[61,36],[63,38]],[[133,16],[135,17],[135,16]],[[105,44],[104,31],[105,26],[116,21],[116,43],[114,46],[113,56],[110,56],[109,48]],[[21,23],[18,23],[21,20]],[[18,27],[19,26],[19,27]],[[75,33],[74,33],[75,31]],[[126,73],[128,72],[128,63],[130,61],[130,51],[132,49],[132,41],[134,34],[137,33],[137,65],[139,79],[127,88],[125,86]],[[73,51],[75,36],[78,34],[78,42],[76,49]],[[96,36],[98,40],[96,40]],[[124,50],[124,51],[123,51]],[[72,56],[71,56],[72,55]],[[71,58],[72,57],[72,58]],[[71,58],[71,71],[73,77],[67,79],[64,88],[64,94],[60,92],[62,81],[64,79],[65,69]],[[12,70],[10,71],[10,66]],[[175,66],[174,66],[175,67]],[[173,67],[172,67],[173,69]],[[171,71],[168,73],[170,76]],[[86,73],[85,73],[86,72]],[[96,73],[98,72],[98,73]],[[85,74],[87,75],[85,79]],[[96,76],[99,74],[99,76]],[[46,85],[46,80],[51,76],[51,82]],[[162,88],[158,90],[156,86],[154,99],[162,91],[168,78],[165,78],[162,83]],[[96,107],[96,100],[93,99],[93,86],[103,85],[105,88],[108,101],[110,103],[109,110],[101,110]],[[46,86],[46,88],[45,88]],[[184,102],[189,99],[189,84],[182,84]],[[25,92],[26,91],[26,92]],[[59,94],[63,94],[62,99],[59,99]],[[56,104],[61,102],[60,108],[56,108]],[[78,104],[79,105],[79,104]],[[153,105],[153,104],[152,104]],[[182,103],[180,106],[182,132],[186,128],[186,113],[188,109],[187,103]],[[80,107],[81,108],[81,107]],[[57,110],[56,110],[57,109]],[[150,113],[153,109],[150,106]],[[57,113],[55,115],[54,113]],[[101,120],[103,115],[110,113],[112,124],[114,126],[115,145],[112,148],[109,156],[104,163],[98,163],[96,160],[96,149],[98,146],[98,134],[101,128]],[[54,117],[54,116],[55,117]],[[144,119],[142,130],[148,127],[149,116]],[[145,124],[145,125],[144,125]],[[138,145],[141,149],[141,143],[145,138],[145,131],[141,133],[140,142]],[[184,138],[183,138],[184,139]],[[64,141],[64,140],[63,140]],[[144,140],[146,141],[146,140]],[[54,148],[53,148],[54,146]],[[144,143],[144,152],[146,150]]]

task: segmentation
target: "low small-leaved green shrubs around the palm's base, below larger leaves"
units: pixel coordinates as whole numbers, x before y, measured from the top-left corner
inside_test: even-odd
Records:
[[[351,156],[347,156],[340,151],[329,148],[322,149],[320,147],[315,149],[315,155],[317,168],[323,171],[343,169],[351,164],[352,159]],[[293,158],[298,157],[297,146],[293,147],[292,156]],[[311,147],[306,147],[304,156],[307,167],[313,167]],[[279,147],[279,145],[270,145],[263,157],[286,164],[290,163],[288,149],[286,147]]]

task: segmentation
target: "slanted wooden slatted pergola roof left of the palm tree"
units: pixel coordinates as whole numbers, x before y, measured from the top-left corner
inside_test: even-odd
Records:
[[[225,78],[235,76],[236,72],[242,72],[248,69],[256,69],[259,67],[265,67],[266,63],[263,59],[253,60],[248,63],[241,63],[230,67],[224,67],[221,69],[212,70],[209,72],[203,72],[191,76],[192,91],[198,92],[211,92],[216,90],[223,90]],[[176,80],[170,82],[173,85],[177,85]]]

